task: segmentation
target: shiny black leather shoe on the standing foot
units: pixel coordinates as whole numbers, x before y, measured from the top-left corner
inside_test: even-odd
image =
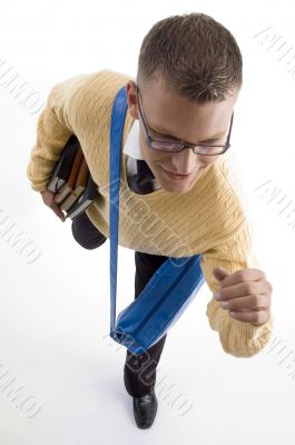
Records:
[[[134,415],[137,426],[141,429],[149,428],[156,417],[158,400],[155,389],[141,397],[134,397]]]

